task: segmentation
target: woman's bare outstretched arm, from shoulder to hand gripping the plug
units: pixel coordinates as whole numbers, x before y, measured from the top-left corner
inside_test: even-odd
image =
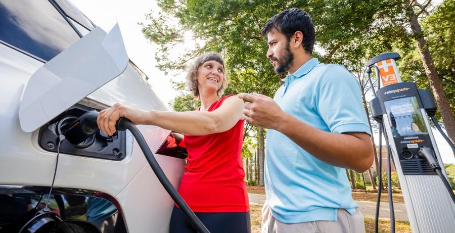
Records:
[[[97,119],[98,127],[106,134],[112,135],[117,130],[115,123],[120,117],[128,118],[134,124],[156,125],[191,135],[207,135],[229,130],[243,119],[243,100],[237,96],[229,97],[212,112],[143,111],[115,104],[100,112]]]

